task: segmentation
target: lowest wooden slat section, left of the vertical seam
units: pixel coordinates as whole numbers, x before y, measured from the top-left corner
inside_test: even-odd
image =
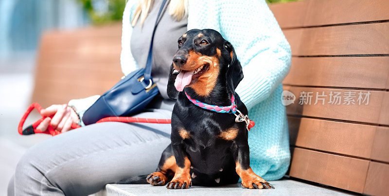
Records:
[[[294,148],[289,175],[362,193],[369,161]]]

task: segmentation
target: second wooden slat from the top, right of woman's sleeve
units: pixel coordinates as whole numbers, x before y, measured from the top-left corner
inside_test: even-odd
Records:
[[[284,30],[292,55],[389,54],[389,22]]]

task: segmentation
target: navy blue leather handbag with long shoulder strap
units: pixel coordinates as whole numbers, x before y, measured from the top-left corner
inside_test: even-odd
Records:
[[[158,94],[159,90],[151,78],[153,59],[153,40],[159,17],[166,0],[163,0],[158,12],[151,37],[150,50],[145,68],[133,71],[120,80],[115,86],[106,91],[85,111],[82,121],[85,125],[94,124],[102,118],[111,116],[128,116],[138,112]]]

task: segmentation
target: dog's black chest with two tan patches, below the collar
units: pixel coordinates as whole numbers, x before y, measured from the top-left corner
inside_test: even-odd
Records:
[[[186,110],[185,115],[175,117],[183,125],[182,128],[177,127],[178,133],[191,165],[197,171],[214,174],[231,164],[231,147],[239,133],[233,114],[198,112],[195,107]]]

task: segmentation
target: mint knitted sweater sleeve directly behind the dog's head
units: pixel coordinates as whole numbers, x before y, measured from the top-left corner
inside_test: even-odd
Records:
[[[290,69],[291,52],[265,0],[196,0],[188,30],[211,28],[231,42],[243,67],[236,91],[248,108],[265,100]]]

